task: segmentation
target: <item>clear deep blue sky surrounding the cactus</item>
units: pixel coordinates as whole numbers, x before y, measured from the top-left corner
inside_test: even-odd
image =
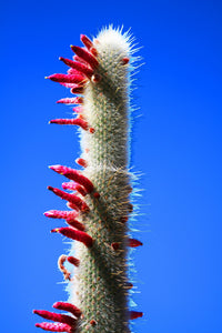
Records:
[[[215,0],[1,2],[1,332],[39,332],[32,309],[67,299],[57,259],[68,245],[42,212],[63,208],[47,167],[73,165],[80,148],[73,128],[48,125],[65,114],[54,103],[65,90],[43,78],[64,71],[58,57],[80,33],[109,23],[132,28],[145,62],[132,140],[145,189],[133,300],[145,315],[134,332],[222,332],[221,18]]]

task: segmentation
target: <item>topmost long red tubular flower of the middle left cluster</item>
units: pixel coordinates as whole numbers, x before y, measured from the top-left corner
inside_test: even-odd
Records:
[[[82,185],[85,189],[85,191],[88,193],[91,193],[94,189],[92,182],[87,176],[81,174],[81,172],[78,170],[73,170],[71,168],[59,165],[59,164],[51,165],[49,168],[60,174],[63,174],[68,179],[73,180],[74,182],[79,183],[80,185]]]

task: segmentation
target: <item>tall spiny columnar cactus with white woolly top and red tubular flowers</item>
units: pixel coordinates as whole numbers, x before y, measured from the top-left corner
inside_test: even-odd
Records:
[[[142,245],[129,236],[128,226],[133,211],[129,172],[130,73],[137,57],[129,33],[112,27],[103,29],[93,41],[87,36],[81,36],[81,41],[83,48],[71,46],[73,60],[60,58],[69,67],[68,73],[48,77],[78,94],[58,103],[79,104],[73,108],[77,118],[50,123],[79,127],[82,154],[77,163],[83,169],[50,167],[69,179],[62,188],[71,192],[49,186],[68,201],[69,210],[44,213],[63,219],[68,226],[52,232],[72,240],[69,255],[62,254],[58,261],[70,297],[53,304],[70,315],[33,312],[56,322],[36,324],[46,331],[127,333],[129,321],[142,316],[142,312],[129,310],[129,290],[133,285],[128,280],[127,262],[128,249]]]

